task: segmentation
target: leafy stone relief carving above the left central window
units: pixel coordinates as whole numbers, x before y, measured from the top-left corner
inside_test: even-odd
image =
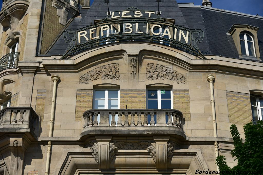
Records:
[[[79,84],[89,84],[89,82],[97,79],[112,79],[119,80],[119,63],[113,63],[108,65],[100,66],[93,69],[80,77]]]

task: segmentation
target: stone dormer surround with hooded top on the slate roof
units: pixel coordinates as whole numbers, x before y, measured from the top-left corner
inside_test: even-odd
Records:
[[[259,43],[257,40],[257,31],[259,30],[258,27],[248,25],[248,24],[233,24],[230,30],[228,31],[228,34],[233,37],[237,52],[239,54],[239,58],[241,59],[249,59],[252,61],[261,61],[260,59],[260,51],[259,51]],[[242,54],[241,49],[241,40],[240,40],[240,34],[246,33],[249,34],[253,40],[253,48],[254,48],[254,54],[255,56],[249,56],[247,54],[248,52],[248,46],[247,42],[245,42],[246,45],[246,54]]]

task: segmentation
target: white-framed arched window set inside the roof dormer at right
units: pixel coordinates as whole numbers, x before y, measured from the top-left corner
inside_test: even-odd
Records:
[[[241,33],[239,37],[242,55],[256,57],[253,37],[246,32]]]

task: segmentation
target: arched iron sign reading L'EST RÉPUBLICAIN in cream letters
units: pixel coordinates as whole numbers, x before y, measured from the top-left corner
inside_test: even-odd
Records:
[[[64,40],[69,45],[62,59],[68,59],[69,56],[91,47],[118,42],[154,42],[206,59],[198,48],[204,31],[174,25],[175,20],[164,19],[154,11],[134,7],[112,12],[105,19],[95,20],[94,25],[78,30],[65,30]]]

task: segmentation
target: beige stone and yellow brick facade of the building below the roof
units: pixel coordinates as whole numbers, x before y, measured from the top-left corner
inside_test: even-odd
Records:
[[[0,70],[0,149],[6,163],[2,166],[0,159],[0,174],[7,175],[8,169],[9,174],[19,175],[188,175],[197,169],[217,170],[218,154],[226,156],[230,167],[236,165],[231,156],[230,125],[237,125],[244,141],[243,127],[252,119],[250,95],[263,95],[261,61],[209,54],[199,57],[171,43],[163,44],[168,38],[153,42],[103,39],[103,44],[96,41],[92,47],[70,54],[69,59],[60,59],[67,50],[65,45],[74,47],[77,42],[69,42],[77,37],[72,24],[91,25],[85,14],[97,9],[75,8],[74,1],[16,2],[3,8],[24,9],[16,28],[4,20],[0,26],[2,57],[17,40],[20,53],[17,66]],[[80,4],[87,2],[81,0]],[[166,9],[168,2],[162,2]],[[100,8],[92,21],[97,24],[105,17],[107,4],[94,3]],[[179,12],[177,3],[172,3]],[[101,9],[104,16],[99,14]],[[221,14],[219,9],[208,10]],[[5,19],[2,11],[0,18]],[[166,19],[182,26],[184,21]],[[73,31],[64,35],[65,29]],[[110,29],[105,31],[108,35]],[[200,45],[209,43],[206,37],[207,32]],[[98,89],[119,90],[118,98],[105,91],[107,97],[99,96],[99,109],[94,109],[94,91]],[[156,92],[147,94],[149,90]],[[165,95],[165,90],[171,90],[171,96]],[[147,109],[151,102],[146,97],[152,98],[154,109]],[[5,108],[8,100],[10,106]],[[104,109],[109,103],[112,109]],[[167,109],[170,104],[173,109]]]

